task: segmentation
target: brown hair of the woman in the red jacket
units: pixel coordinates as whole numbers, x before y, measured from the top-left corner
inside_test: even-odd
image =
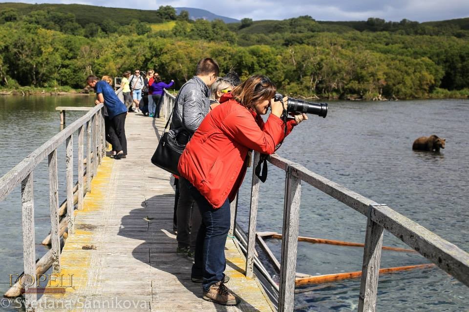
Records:
[[[259,101],[274,98],[276,91],[274,83],[269,78],[253,75],[236,86],[231,95],[244,107],[252,108]]]

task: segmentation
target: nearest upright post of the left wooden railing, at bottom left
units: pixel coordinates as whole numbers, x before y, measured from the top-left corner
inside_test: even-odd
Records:
[[[27,291],[34,287],[36,281],[36,245],[34,234],[34,197],[33,197],[33,173],[31,172],[21,181],[21,215],[23,231],[23,263],[24,275],[21,284]],[[25,306],[27,312],[32,312],[32,303],[36,301],[36,293],[25,293]]]

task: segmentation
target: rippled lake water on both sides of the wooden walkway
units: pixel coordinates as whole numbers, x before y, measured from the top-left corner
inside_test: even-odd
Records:
[[[58,131],[55,106],[92,106],[92,97],[0,97],[0,176]],[[67,123],[83,112],[67,113]],[[469,251],[469,101],[331,102],[326,118],[310,116],[278,154],[411,218]],[[441,153],[413,152],[415,138],[447,139]],[[76,142],[75,142],[76,143]],[[76,149],[75,149],[76,150]],[[64,146],[58,151],[64,168]],[[61,162],[61,159],[63,160]],[[61,171],[59,170],[59,173]],[[247,228],[251,170],[240,190],[237,221]],[[50,229],[47,161],[34,172],[37,257]],[[64,173],[59,200],[64,200]],[[284,172],[269,165],[260,186],[258,231],[281,233]],[[0,291],[10,273],[21,273],[21,203],[17,187],[0,201]],[[366,218],[302,183],[299,234],[363,242]],[[279,257],[280,241],[268,240]],[[385,232],[384,245],[406,248]],[[362,248],[298,243],[297,271],[327,274],[361,271]],[[383,252],[382,268],[427,263],[418,254]],[[296,311],[356,311],[360,280],[297,289]],[[380,276],[379,311],[469,311],[469,290],[434,268]]]

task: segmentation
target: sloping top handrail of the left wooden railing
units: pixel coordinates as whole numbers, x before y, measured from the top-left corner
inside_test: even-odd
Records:
[[[15,186],[24,180],[43,159],[54,151],[67,137],[70,137],[75,131],[89,121],[98,111],[104,107],[104,104],[96,105],[83,117],[78,118],[64,130],[47,140],[43,145],[26,156],[13,169],[0,178],[0,200],[7,196]]]

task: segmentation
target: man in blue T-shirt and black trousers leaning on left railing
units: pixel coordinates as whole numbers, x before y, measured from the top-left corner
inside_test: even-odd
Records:
[[[126,105],[116,96],[114,89],[105,81],[96,76],[86,78],[88,86],[96,92],[95,104],[104,103],[110,121],[109,140],[116,151],[115,159],[126,158],[127,138],[125,123],[127,116]]]

